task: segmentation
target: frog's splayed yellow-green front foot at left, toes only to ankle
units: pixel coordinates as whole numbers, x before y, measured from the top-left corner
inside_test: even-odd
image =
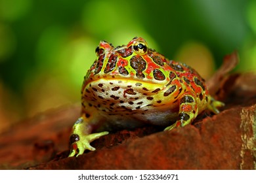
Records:
[[[70,136],[70,142],[73,142],[70,147],[70,155],[68,157],[72,156],[79,156],[83,154],[85,150],[91,150],[94,151],[95,148],[91,146],[90,142],[93,142],[95,139],[98,139],[104,135],[108,135],[108,131],[103,131],[100,133],[92,133],[89,135],[77,135],[72,134]]]

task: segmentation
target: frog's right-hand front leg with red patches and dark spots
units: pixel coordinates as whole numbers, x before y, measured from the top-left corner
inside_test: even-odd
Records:
[[[165,130],[171,130],[179,126],[184,127],[185,125],[190,124],[198,115],[198,107],[196,104],[196,96],[194,93],[183,93],[183,95],[179,99],[179,103],[180,105],[178,120],[173,125],[166,127]]]

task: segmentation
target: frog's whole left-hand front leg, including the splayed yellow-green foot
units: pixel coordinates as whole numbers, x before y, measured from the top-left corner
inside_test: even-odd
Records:
[[[81,118],[75,122],[72,130],[72,134],[70,135],[70,155],[79,156],[83,154],[85,150],[95,150],[93,146],[90,145],[90,142],[95,139],[100,138],[103,135],[107,135],[108,131],[100,132],[100,133],[92,133],[93,125],[90,124],[90,120],[92,117],[83,114]]]

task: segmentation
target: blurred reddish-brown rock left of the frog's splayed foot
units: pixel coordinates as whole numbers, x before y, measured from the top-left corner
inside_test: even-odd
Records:
[[[78,105],[38,114],[0,135],[0,169],[24,169],[47,162],[68,149]]]

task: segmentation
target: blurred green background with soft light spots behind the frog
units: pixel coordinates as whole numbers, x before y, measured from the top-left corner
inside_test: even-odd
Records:
[[[236,71],[255,71],[256,1],[0,0],[0,132],[79,103],[98,42],[135,36],[205,78],[233,50]]]

